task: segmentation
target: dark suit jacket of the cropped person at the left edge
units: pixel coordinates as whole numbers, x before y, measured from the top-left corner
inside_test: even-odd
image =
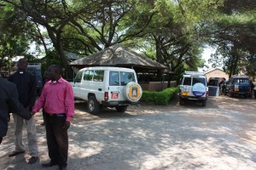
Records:
[[[26,111],[19,102],[15,83],[7,82],[0,77],[0,138],[6,135],[9,113],[15,113],[28,120],[31,113]]]

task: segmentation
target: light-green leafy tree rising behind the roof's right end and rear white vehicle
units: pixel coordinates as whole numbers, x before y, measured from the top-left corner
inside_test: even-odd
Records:
[[[171,65],[178,71],[196,71],[203,65],[201,59],[205,23],[214,20],[222,1],[154,1],[154,17],[147,28],[148,37],[142,43],[146,50],[154,46],[155,53],[149,54],[162,64]],[[195,10],[195,8],[197,10]],[[141,47],[142,47],[141,46]],[[148,54],[148,51],[146,52]],[[154,57],[153,57],[154,58]],[[181,69],[180,67],[184,68]]]

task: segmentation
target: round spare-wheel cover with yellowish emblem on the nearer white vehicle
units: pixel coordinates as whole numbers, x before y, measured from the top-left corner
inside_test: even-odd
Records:
[[[131,102],[137,102],[143,95],[143,89],[136,82],[129,82],[124,89],[125,99]]]

